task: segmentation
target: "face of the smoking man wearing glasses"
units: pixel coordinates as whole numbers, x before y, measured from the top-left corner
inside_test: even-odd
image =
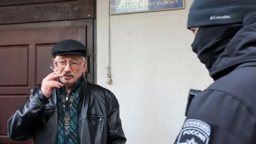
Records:
[[[67,87],[73,86],[85,73],[87,62],[82,55],[57,55],[53,59],[54,68],[63,74],[60,81]]]

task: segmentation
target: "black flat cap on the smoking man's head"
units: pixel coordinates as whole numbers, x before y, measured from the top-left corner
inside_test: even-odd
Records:
[[[55,44],[52,47],[52,57],[57,55],[79,54],[86,57],[87,47],[74,39],[67,39]]]

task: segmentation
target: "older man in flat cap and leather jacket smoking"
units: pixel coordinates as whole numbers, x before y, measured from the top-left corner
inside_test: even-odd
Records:
[[[7,123],[12,140],[35,144],[125,143],[119,104],[109,90],[86,81],[86,47],[74,40],[52,48],[57,71],[47,75]]]

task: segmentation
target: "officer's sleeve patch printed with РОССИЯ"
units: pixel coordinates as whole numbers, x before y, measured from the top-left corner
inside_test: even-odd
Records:
[[[186,119],[178,136],[180,144],[208,144],[211,126],[198,119]]]

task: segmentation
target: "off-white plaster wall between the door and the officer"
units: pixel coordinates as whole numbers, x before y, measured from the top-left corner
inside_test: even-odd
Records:
[[[212,82],[191,51],[190,4],[109,16],[109,1],[97,0],[97,83],[116,95],[128,144],[172,143],[185,119],[189,89]],[[107,84],[109,32],[113,85]]]

